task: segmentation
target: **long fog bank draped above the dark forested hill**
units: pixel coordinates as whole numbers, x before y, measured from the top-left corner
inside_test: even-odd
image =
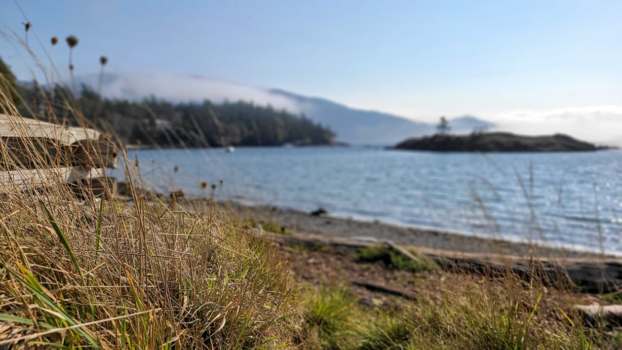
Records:
[[[96,77],[83,78],[85,83],[96,86]],[[271,93],[264,88],[231,83],[230,81],[204,78],[202,76],[179,76],[166,73],[106,75],[101,92],[104,96],[123,99],[141,99],[154,95],[169,101],[248,101],[261,106],[270,104],[277,109],[299,113],[300,108],[292,99]]]

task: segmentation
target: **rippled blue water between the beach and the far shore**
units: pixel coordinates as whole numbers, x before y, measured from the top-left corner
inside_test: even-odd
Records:
[[[363,147],[135,150],[165,193],[622,253],[622,151],[468,154]],[[175,166],[178,171],[175,172]]]

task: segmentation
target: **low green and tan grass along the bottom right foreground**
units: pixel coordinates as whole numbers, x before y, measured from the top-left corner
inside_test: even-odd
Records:
[[[543,294],[512,295],[452,279],[442,298],[404,301],[398,308],[365,306],[343,287],[309,288],[306,348],[312,349],[593,349],[593,334],[580,323],[545,318]],[[428,286],[429,287],[429,286]],[[518,297],[518,300],[508,300]],[[578,317],[573,316],[575,321]],[[615,339],[608,339],[615,344]]]

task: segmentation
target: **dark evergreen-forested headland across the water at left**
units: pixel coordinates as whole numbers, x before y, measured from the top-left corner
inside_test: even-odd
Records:
[[[32,84],[19,84],[23,97],[20,106],[38,112],[43,119],[66,119],[68,88],[55,88],[53,113],[45,111],[50,91]],[[304,116],[247,102],[213,104],[171,103],[156,98],[140,102],[126,99],[102,99],[90,87],[81,87],[79,108],[84,116],[119,137],[124,144],[160,147],[216,147],[226,145],[324,145],[331,144],[335,133]],[[47,105],[47,103],[45,103]],[[29,115],[29,113],[22,113]]]

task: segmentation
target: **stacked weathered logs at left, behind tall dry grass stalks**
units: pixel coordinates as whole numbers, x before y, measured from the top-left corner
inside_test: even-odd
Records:
[[[105,168],[117,167],[117,156],[93,129],[0,114],[0,193],[68,183],[78,194],[113,195],[104,193],[116,188]]]

